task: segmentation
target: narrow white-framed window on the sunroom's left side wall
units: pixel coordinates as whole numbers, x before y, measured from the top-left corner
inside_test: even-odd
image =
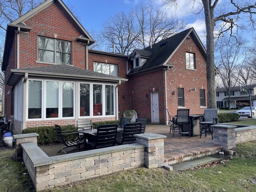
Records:
[[[22,120],[22,103],[23,103],[23,84],[20,81],[14,87],[14,119],[21,121]]]

